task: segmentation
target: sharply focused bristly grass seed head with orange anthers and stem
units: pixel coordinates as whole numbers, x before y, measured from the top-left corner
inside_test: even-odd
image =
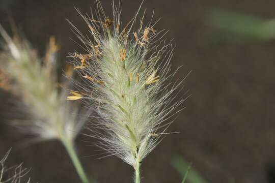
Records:
[[[173,48],[162,40],[165,32],[156,32],[151,22],[144,25],[144,16],[134,31],[138,13],[122,28],[121,11],[115,6],[113,10],[111,19],[97,1],[95,16],[82,15],[92,39],[72,25],[86,53],[71,54],[84,83],[76,83],[78,91],[68,100],[83,99],[97,111],[91,136],[100,139],[98,146],[106,156],[115,155],[131,165],[139,183],[143,159],[172,123],[163,122],[184,101],[174,100],[182,81],[170,81]]]

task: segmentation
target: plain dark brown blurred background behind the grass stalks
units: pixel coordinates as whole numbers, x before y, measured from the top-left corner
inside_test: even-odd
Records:
[[[140,3],[121,1],[124,25]],[[102,4],[111,17],[111,1],[102,0]],[[81,50],[70,39],[76,40],[76,36],[66,18],[85,33],[86,24],[74,7],[89,13],[94,5],[94,0],[0,0],[0,23],[10,31],[14,22],[41,55],[49,37],[56,36],[60,60],[65,63],[68,52]],[[192,96],[170,128],[181,133],[164,138],[142,164],[143,182],[180,182],[180,174],[171,165],[174,155],[193,162],[193,168],[207,182],[275,182],[275,42],[272,37],[236,37],[206,21],[212,8],[268,20],[275,17],[274,6],[272,0],[144,2],[148,18],[153,10],[155,20],[162,17],[155,28],[170,29],[167,38],[174,38],[173,68],[183,65],[176,77],[183,78],[192,70],[181,93],[189,89]],[[243,25],[238,17],[233,20]],[[271,28],[267,30],[272,32]],[[254,31],[254,26],[248,29]],[[59,142],[22,145],[25,135],[6,124],[7,118],[19,115],[12,105],[15,100],[0,90],[0,155],[13,147],[8,164],[24,162],[24,167],[32,167],[32,182],[79,182]],[[97,154],[96,148],[85,141],[92,140],[80,135],[77,148],[87,173],[99,182],[131,181],[132,168],[121,160],[85,157]]]

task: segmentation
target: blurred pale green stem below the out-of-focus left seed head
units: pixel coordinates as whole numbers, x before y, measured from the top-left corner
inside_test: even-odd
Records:
[[[85,173],[85,171],[76,155],[75,149],[73,147],[73,142],[68,141],[66,139],[63,139],[62,142],[63,142],[63,144],[64,144],[72,162],[73,162],[73,165],[74,165],[82,183],[89,183],[89,179],[88,179],[88,177],[87,177],[87,175],[86,175],[86,173]]]

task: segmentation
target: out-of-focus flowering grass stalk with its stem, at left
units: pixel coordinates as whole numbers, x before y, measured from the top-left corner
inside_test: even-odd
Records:
[[[31,114],[30,120],[20,120],[15,125],[36,135],[35,141],[60,140],[82,182],[88,183],[74,149],[74,140],[86,119],[77,117],[79,107],[67,102],[67,90],[58,87],[56,59],[59,47],[54,38],[50,39],[46,56],[39,58],[26,40],[11,39],[1,25],[0,33],[7,43],[0,62],[1,73],[6,79],[0,80],[0,85],[21,97],[26,105],[21,110]],[[63,85],[67,87],[68,83]]]

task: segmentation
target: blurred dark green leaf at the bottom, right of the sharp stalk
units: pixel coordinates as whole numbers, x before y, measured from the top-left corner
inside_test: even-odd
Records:
[[[190,168],[190,164],[188,164],[182,157],[176,156],[172,159],[173,167],[181,174],[183,177],[182,183],[207,183],[207,181],[201,177],[201,175]]]

